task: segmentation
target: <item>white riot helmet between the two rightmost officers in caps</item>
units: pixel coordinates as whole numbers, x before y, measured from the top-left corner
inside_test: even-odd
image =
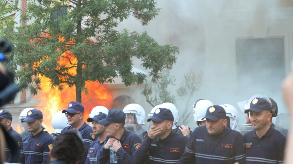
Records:
[[[235,130],[236,126],[238,125],[238,122],[239,122],[239,114],[238,114],[237,109],[230,104],[222,104],[220,106],[225,109],[226,116],[229,117],[228,123],[230,123],[230,124],[227,124],[227,128],[231,128],[231,129]]]

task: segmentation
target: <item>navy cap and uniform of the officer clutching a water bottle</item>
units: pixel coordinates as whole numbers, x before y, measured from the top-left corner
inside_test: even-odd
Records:
[[[109,123],[125,123],[126,115],[123,111],[111,109],[109,110],[108,116],[98,121],[100,125],[107,125]],[[115,138],[113,136],[107,136],[105,139],[105,143],[107,143],[108,139]],[[139,148],[142,144],[142,140],[140,137],[134,132],[128,131],[124,128],[124,132],[120,139],[116,138],[120,141],[121,146],[117,150],[117,164],[132,164],[134,163],[134,152]],[[109,149],[102,148],[100,153],[98,154],[98,163],[107,163],[110,164],[110,151]]]

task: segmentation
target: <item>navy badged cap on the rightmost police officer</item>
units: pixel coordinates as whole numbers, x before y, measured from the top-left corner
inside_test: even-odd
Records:
[[[261,112],[263,110],[271,111],[271,104],[263,98],[255,97],[250,102],[249,109],[246,109],[244,113],[248,113],[250,111]]]

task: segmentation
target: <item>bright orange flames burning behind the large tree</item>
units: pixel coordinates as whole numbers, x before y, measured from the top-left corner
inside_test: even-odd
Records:
[[[46,34],[44,34],[46,36]],[[49,36],[50,37],[50,36]],[[64,41],[63,37],[59,37],[59,41]],[[72,44],[70,41],[67,44]],[[58,48],[57,48],[58,49]],[[42,61],[40,61],[42,62]],[[58,64],[55,69],[60,70],[62,66],[70,67],[67,71],[63,73],[70,74],[71,76],[76,75],[76,67],[74,64],[77,63],[77,59],[70,51],[65,51],[61,54],[61,57],[58,59]],[[40,63],[35,63],[33,67],[38,67]],[[75,98],[75,86],[69,88],[69,86],[65,83],[62,83],[63,90],[58,90],[58,88],[52,88],[50,84],[50,79],[39,75],[41,78],[41,90],[39,91],[39,95],[41,97],[40,104],[35,107],[35,109],[39,109],[43,113],[43,125],[46,128],[46,131],[49,133],[54,132],[54,128],[52,127],[52,116],[60,110],[67,109],[69,102],[76,101]],[[64,78],[59,78],[60,80],[64,80]],[[98,82],[86,82],[85,88],[88,89],[88,94],[82,93],[82,104],[84,106],[84,121],[87,123],[86,119],[88,118],[88,114],[90,114],[91,109],[98,105],[105,106],[110,109],[113,97],[106,90],[106,88],[99,84]]]

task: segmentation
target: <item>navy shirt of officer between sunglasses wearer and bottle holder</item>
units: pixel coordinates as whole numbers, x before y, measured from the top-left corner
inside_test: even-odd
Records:
[[[97,139],[88,147],[88,154],[86,156],[85,164],[98,164],[98,154],[103,149],[105,141],[100,143],[100,140]]]

